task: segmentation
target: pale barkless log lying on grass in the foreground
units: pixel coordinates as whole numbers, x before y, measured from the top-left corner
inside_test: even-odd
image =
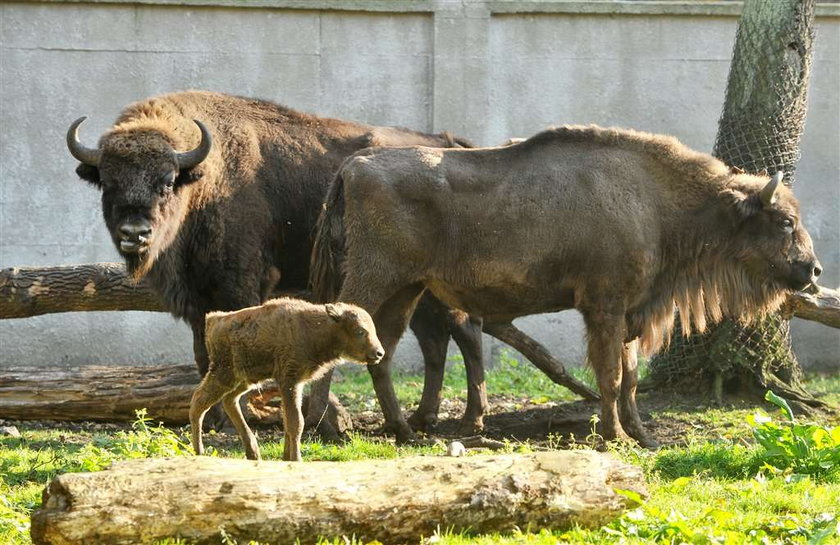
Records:
[[[600,526],[644,495],[639,468],[592,451],[359,462],[132,460],[65,474],[32,515],[35,545],[315,543],[318,536],[419,543],[456,533]]]

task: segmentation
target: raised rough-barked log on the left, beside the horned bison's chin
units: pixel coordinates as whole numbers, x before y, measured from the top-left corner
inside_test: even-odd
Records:
[[[166,310],[120,263],[0,270],[0,318],[86,310]]]

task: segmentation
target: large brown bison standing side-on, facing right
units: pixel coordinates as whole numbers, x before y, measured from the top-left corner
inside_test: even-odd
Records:
[[[313,283],[374,316],[386,364],[425,289],[485,323],[575,308],[601,433],[654,445],[636,407],[636,344],[667,342],[675,307],[684,331],[702,331],[772,311],[820,274],[781,178],[735,173],[672,137],[595,126],[504,148],[366,150],[330,188]]]

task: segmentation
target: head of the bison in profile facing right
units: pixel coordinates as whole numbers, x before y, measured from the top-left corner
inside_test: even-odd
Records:
[[[783,173],[777,172],[766,184],[756,186],[755,177],[736,175],[736,180],[752,183],[736,182],[730,189],[739,218],[734,242],[748,271],[782,289],[801,290],[816,283],[822,268],[802,225],[799,203],[781,184],[782,178]]]

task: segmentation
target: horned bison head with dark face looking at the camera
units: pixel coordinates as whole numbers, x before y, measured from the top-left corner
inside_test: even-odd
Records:
[[[98,148],[87,148],[78,138],[85,119],[77,119],[67,131],[67,147],[81,162],[76,173],[101,189],[111,238],[129,270],[142,275],[175,238],[188,207],[186,188],[201,178],[197,167],[210,153],[212,137],[195,120],[198,145],[177,152],[181,140],[175,135],[194,133],[192,123],[173,128],[128,122],[106,133]]]

